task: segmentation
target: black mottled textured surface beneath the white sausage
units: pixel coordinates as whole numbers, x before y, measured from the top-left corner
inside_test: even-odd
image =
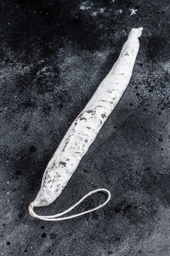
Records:
[[[32,218],[47,163],[141,26],[123,97],[60,197],[36,212],[64,211],[97,188],[110,202],[72,220]],[[170,255],[169,38],[169,0],[0,1],[0,255]]]

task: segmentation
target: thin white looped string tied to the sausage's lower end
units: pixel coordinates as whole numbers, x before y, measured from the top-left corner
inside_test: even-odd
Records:
[[[99,205],[99,206],[97,206],[97,207],[95,207],[95,208],[93,208],[93,209],[91,209],[91,210],[84,211],[84,212],[82,212],[82,213],[78,213],[78,214],[75,214],[75,215],[72,215],[72,216],[68,216],[68,217],[57,218],[57,217],[60,217],[60,216],[62,216],[62,215],[64,215],[64,214],[68,213],[69,211],[71,211],[72,209],[74,209],[78,204],[80,204],[80,203],[81,203],[85,198],[87,198],[89,195],[92,195],[92,194],[94,194],[94,193],[96,193],[96,192],[98,192],[98,191],[104,191],[104,192],[108,193],[108,198],[107,198],[107,200],[106,200],[103,204],[101,204],[101,205]],[[109,192],[107,189],[96,189],[96,190],[93,190],[93,191],[89,192],[88,194],[84,195],[84,197],[83,197],[82,199],[80,199],[76,204],[74,204],[73,206],[71,206],[70,208],[68,208],[66,211],[63,211],[62,213],[58,213],[58,214],[52,215],[52,216],[39,216],[39,215],[37,215],[37,214],[33,211],[33,207],[34,207],[34,206],[33,206],[33,203],[31,203],[30,206],[29,206],[29,213],[31,214],[31,216],[33,216],[33,217],[35,217],[35,218],[38,218],[38,219],[40,219],[40,220],[48,220],[48,221],[68,220],[68,219],[72,219],[72,218],[75,218],[75,217],[78,217],[78,216],[82,216],[82,215],[84,215],[84,214],[86,214],[86,213],[90,213],[90,212],[92,212],[92,211],[95,211],[95,210],[97,210],[97,209],[103,207],[103,206],[104,206],[105,204],[107,204],[108,201],[110,200],[110,196],[111,196],[111,195],[110,195],[110,192]]]

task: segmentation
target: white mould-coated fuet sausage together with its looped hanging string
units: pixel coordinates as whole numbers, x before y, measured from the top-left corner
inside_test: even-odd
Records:
[[[69,217],[57,218],[71,211],[71,209],[82,202],[84,198],[63,213],[58,213],[53,216],[38,216],[33,211],[33,207],[49,205],[60,195],[62,189],[64,189],[71,175],[76,170],[80,160],[95,140],[95,137],[102,128],[108,115],[110,115],[115,108],[132,75],[133,66],[139,50],[138,38],[141,36],[142,30],[142,27],[131,29],[128,40],[124,44],[117,62],[99,85],[84,110],[78,115],[75,121],[73,121],[73,124],[66,132],[66,135],[46,167],[40,191],[29,206],[31,216],[42,220],[74,218],[95,211],[110,200],[110,192],[108,190],[97,189],[85,195],[84,198],[97,191],[104,191],[108,193],[108,199],[104,204],[89,211]]]

